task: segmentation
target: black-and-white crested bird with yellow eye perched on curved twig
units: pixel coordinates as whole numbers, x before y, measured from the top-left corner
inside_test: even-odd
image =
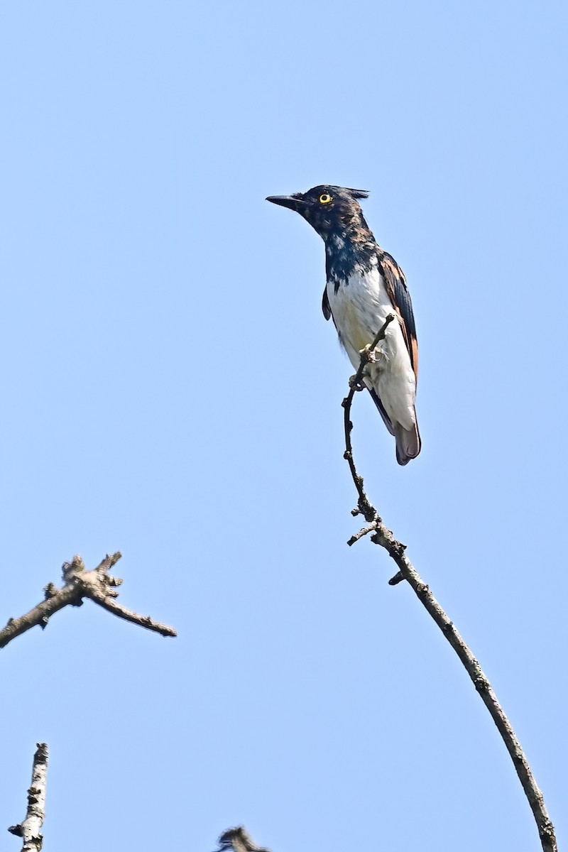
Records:
[[[267,201],[299,213],[324,239],[326,284],[322,310],[332,319],[341,346],[357,370],[361,354],[387,316],[395,321],[370,354],[364,385],[396,441],[399,464],[421,450],[416,419],[418,342],[410,293],[393,256],[376,242],[359,201],[363,189],[323,184],[307,193],[269,195]]]

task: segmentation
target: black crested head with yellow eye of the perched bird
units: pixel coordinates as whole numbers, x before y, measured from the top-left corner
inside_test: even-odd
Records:
[[[303,216],[323,239],[331,234],[345,238],[357,231],[369,233],[359,199],[366,199],[364,189],[347,189],[322,184],[294,195],[269,195],[267,201],[289,207]]]

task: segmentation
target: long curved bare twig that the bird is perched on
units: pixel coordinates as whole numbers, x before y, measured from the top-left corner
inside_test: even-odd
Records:
[[[388,321],[390,321],[389,317],[387,317],[387,322]],[[386,325],[387,323],[383,325],[381,331],[379,331],[379,334],[376,337],[376,342],[378,342],[382,336],[384,337]],[[376,347],[376,342],[373,343],[371,351]],[[343,406],[346,447],[344,458],[346,458],[349,463],[349,469],[353,477],[353,484],[358,493],[357,509],[353,509],[352,514],[364,515],[365,520],[370,524],[369,527],[364,527],[359,531],[359,533],[356,533],[352,538],[350,538],[347,544],[354,544],[355,541],[359,541],[359,538],[363,538],[366,533],[370,533],[374,530],[370,540],[374,544],[380,544],[381,547],[387,550],[388,555],[399,568],[399,571],[389,580],[389,584],[395,585],[403,579],[410,584],[412,589],[416,592],[418,600],[422,603],[423,607],[426,608],[427,613],[432,616],[433,620],[439,626],[439,629],[442,631],[448,642],[450,642],[451,647],[462,661],[463,667],[473,681],[473,686],[479,692],[481,699],[491,714],[491,718],[496,724],[499,734],[501,734],[505,746],[507,746],[514,768],[519,775],[519,780],[525,792],[525,796],[531,805],[532,814],[536,821],[536,828],[538,829],[538,834],[541,838],[543,852],[558,852],[556,837],[554,835],[554,826],[548,816],[542,792],[539,790],[538,786],[536,786],[536,780],[531,772],[531,767],[526,759],[525,752],[521,748],[519,740],[511,727],[511,723],[505,716],[502,706],[496,699],[496,694],[493,692],[491,683],[487,676],[485,676],[479,662],[475,659],[473,653],[463,641],[462,636],[460,636],[456,627],[450,621],[445,611],[442,607],[440,607],[439,602],[429,590],[427,584],[424,583],[420,574],[410,562],[410,559],[404,555],[406,545],[394,538],[393,533],[382,522],[375,506],[370,503],[370,499],[364,491],[363,477],[358,474],[353,460],[353,446],[351,441],[353,423],[351,422],[351,406],[354,394],[364,388],[361,384],[361,378],[363,377],[364,368],[369,360],[369,350],[365,350],[361,354],[359,370],[355,377],[353,377],[349,382],[349,393],[341,403]]]

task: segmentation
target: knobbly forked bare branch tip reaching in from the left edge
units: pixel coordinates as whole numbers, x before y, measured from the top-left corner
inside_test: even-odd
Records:
[[[162,636],[177,636],[173,627],[160,624],[149,615],[139,615],[121,606],[115,600],[118,596],[117,586],[123,581],[119,577],[113,577],[109,571],[121,556],[119,552],[107,554],[100,565],[91,571],[85,570],[81,556],[74,556],[71,562],[64,562],[62,566],[64,584],[58,589],[55,584],[49,583],[44,589],[44,601],[38,603],[29,613],[21,615],[19,619],[9,619],[8,624],[0,630],[0,648],[4,648],[16,636],[20,636],[35,625],[39,625],[43,630],[54,613],[69,605],[80,607],[84,598],[90,598],[109,613],[118,615],[119,619],[146,627],[147,630],[154,630]]]

